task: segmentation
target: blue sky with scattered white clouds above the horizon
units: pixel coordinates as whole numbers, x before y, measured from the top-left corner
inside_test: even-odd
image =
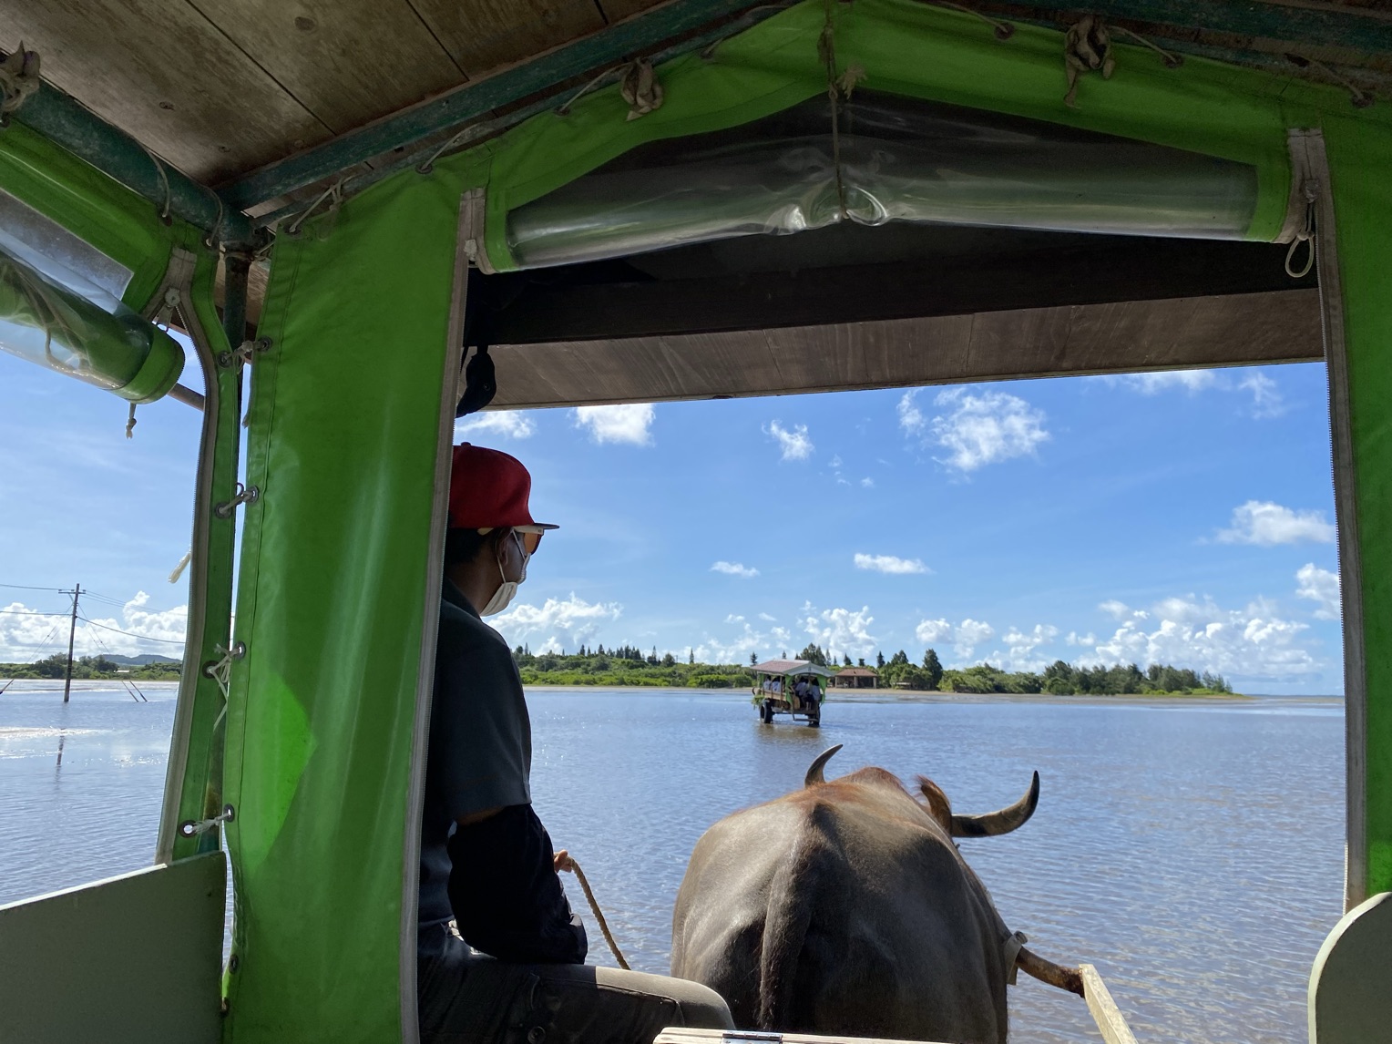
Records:
[[[189,383],[198,384],[196,377]],[[1342,690],[1321,365],[491,413],[546,537],[496,618],[533,650],[928,646],[949,665],[1169,661]],[[0,583],[175,639],[198,416],[0,355]],[[0,657],[57,593],[0,587]],[[174,646],[85,629],[114,651]]]

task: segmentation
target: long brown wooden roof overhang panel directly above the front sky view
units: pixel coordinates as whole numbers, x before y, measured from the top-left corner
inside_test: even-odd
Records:
[[[1311,362],[1317,290],[494,345],[494,409]],[[679,359],[679,362],[678,362]]]

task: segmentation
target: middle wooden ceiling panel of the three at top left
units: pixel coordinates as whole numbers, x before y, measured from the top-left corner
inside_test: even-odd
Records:
[[[334,134],[465,77],[406,0],[189,0]],[[309,142],[288,141],[285,152]]]

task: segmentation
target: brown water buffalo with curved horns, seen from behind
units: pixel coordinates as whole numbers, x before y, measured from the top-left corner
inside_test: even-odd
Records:
[[[1020,948],[952,838],[1006,834],[1038,803],[955,816],[883,768],[722,818],[696,842],[672,916],[672,974],[714,988],[748,1029],[1004,1044],[1015,967],[1082,992]]]

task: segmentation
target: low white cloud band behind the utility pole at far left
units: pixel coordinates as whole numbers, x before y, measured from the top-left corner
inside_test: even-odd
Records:
[[[74,656],[141,656],[156,653],[178,660],[182,654],[184,632],[188,625],[188,606],[168,610],[148,610],[150,596],[136,593],[121,607],[120,617],[102,617],[93,611],[95,601],[81,601],[79,618],[72,639]],[[53,607],[49,607],[50,610]],[[124,632],[124,633],[122,633]],[[68,650],[67,612],[46,615],[21,601],[10,603],[0,612],[0,660],[32,663],[53,653]]]

